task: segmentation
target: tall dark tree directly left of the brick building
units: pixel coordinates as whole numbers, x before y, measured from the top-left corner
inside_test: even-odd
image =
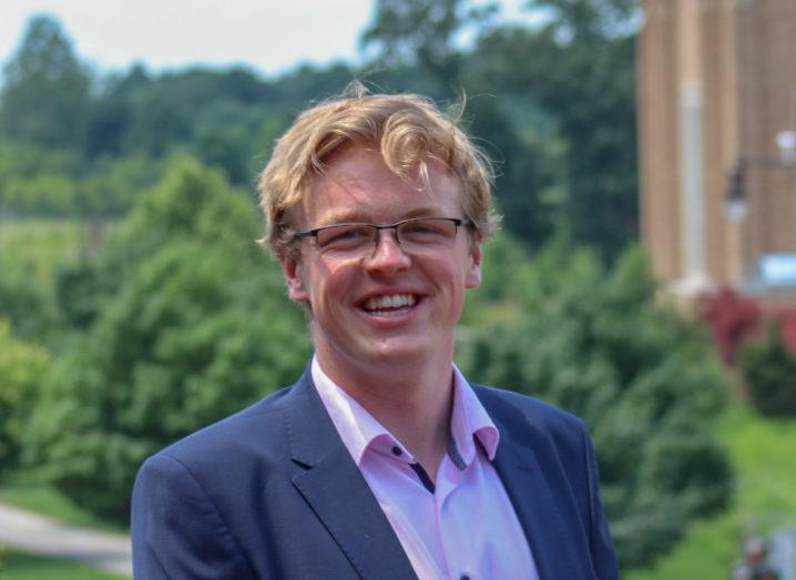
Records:
[[[565,145],[562,222],[574,243],[609,257],[637,230],[633,4],[529,2],[547,9],[543,24],[483,34],[468,67],[473,85],[524,95],[554,120]]]

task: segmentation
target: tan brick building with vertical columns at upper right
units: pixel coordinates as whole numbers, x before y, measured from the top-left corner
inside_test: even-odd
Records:
[[[640,3],[641,226],[655,274],[684,294],[796,296],[796,164],[776,142],[796,129],[796,0]],[[738,163],[748,210],[733,222],[723,202]]]

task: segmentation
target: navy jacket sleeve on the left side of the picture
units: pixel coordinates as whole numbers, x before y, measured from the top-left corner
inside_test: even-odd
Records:
[[[169,455],[151,457],[139,470],[131,528],[136,580],[254,576],[202,485]]]

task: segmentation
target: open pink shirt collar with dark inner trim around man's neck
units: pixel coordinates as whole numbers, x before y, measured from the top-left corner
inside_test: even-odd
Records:
[[[357,466],[361,465],[368,449],[415,462],[411,454],[392,434],[324,373],[315,356],[310,372],[320,400]],[[474,439],[478,439],[487,457],[494,459],[500,438],[498,429],[456,365],[450,430],[452,437],[448,455],[460,469],[476,457]]]

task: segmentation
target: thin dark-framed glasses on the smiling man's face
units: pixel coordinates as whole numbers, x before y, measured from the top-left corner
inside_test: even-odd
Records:
[[[423,253],[452,246],[459,226],[471,223],[459,217],[412,217],[389,225],[335,224],[296,232],[293,238],[314,237],[320,252],[360,256],[376,250],[381,230],[395,230],[404,252]]]

